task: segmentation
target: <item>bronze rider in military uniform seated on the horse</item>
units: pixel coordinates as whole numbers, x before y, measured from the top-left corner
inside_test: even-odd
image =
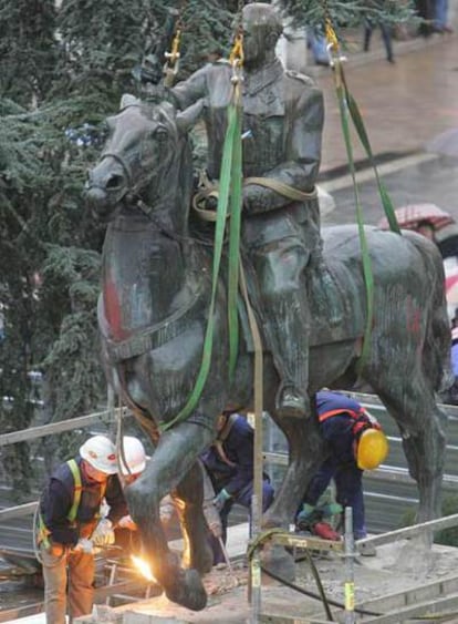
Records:
[[[242,243],[257,274],[267,338],[281,378],[277,407],[281,416],[304,416],[309,412],[310,333],[304,269],[316,273],[324,298],[331,279],[322,260],[319,204],[313,196],[323,96],[310,78],[284,70],[275,57],[282,22],[271,4],[247,4],[242,28],[243,176],[269,178],[311,194],[298,201],[250,184],[243,188],[242,212]],[[171,91],[181,110],[204,102],[207,174],[214,181],[220,175],[231,76],[231,65],[217,61]]]

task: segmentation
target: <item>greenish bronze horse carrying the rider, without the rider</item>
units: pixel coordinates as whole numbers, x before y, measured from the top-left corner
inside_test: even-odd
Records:
[[[198,458],[215,441],[217,417],[228,405],[249,408],[253,354],[241,336],[230,383],[227,297],[220,284],[208,380],[192,413],[160,432],[187,402],[200,368],[212,248],[189,226],[186,112],[136,101],[107,123],[110,135],[85,190],[93,214],[107,223],[98,305],[104,366],[155,447],[145,472],[125,493],[166,595],[198,611],[207,600],[200,575],[212,564]],[[358,376],[374,389],[399,427],[419,489],[419,519],[431,519],[439,505],[446,420],[435,392],[449,357],[443,263],[435,246],[417,234],[369,226],[365,232],[375,309],[368,356],[360,361],[367,311],[357,228],[324,228],[324,258],[346,313],[339,331],[326,330],[325,310],[311,329],[309,393],[350,389]],[[313,284],[309,297],[313,313],[313,301],[320,300]],[[288,439],[289,466],[262,526],[288,528],[322,460],[321,438],[316,418],[281,419],[275,412],[279,377],[269,354],[263,378],[264,407]],[[169,492],[179,501],[183,566],[160,524],[159,502]]]

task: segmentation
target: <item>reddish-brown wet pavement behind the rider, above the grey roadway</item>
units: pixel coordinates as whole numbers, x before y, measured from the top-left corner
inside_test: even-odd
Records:
[[[404,50],[413,44],[414,51],[398,54],[394,65],[383,55],[360,64],[362,53],[355,54],[355,62],[348,54],[345,63],[348,88],[376,154],[421,150],[436,134],[458,126],[458,34],[398,43]],[[316,73],[325,95],[322,172],[327,172],[345,164],[346,154],[332,71],[321,68]],[[355,160],[364,156],[357,145]]]

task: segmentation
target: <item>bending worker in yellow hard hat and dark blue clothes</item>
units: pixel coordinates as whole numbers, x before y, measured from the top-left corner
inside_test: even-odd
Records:
[[[311,531],[323,539],[340,535],[326,519],[353,509],[353,532],[356,540],[367,536],[363,471],[374,470],[388,453],[388,441],[377,420],[357,401],[339,392],[316,393],[316,410],[327,459],[313,477],[295,518],[296,530]],[[337,504],[319,507],[319,499],[331,480],[335,482]]]

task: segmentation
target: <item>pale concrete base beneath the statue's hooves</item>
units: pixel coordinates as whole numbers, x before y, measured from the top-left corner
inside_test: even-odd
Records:
[[[314,559],[329,599],[344,602],[345,562],[337,553]],[[394,624],[407,622],[413,615],[434,606],[423,607],[429,601],[450,612],[458,607],[458,549],[437,546],[425,551],[416,541],[403,540],[378,546],[376,555],[356,560],[354,566],[355,603],[383,618],[364,617],[364,622]],[[296,584],[318,594],[316,585],[306,563],[298,564]],[[219,574],[219,575],[218,575]],[[252,622],[253,612],[248,602],[247,570],[235,570],[238,586],[229,583],[228,571],[214,571],[205,577],[209,593],[208,606],[192,612],[170,603],[165,596],[139,601],[107,611],[95,617],[79,618],[75,624],[246,624]],[[221,583],[221,581],[226,581]],[[218,583],[220,586],[218,587]],[[209,591],[210,589],[210,591]],[[421,599],[421,600],[420,600]],[[416,613],[413,614],[412,610]],[[333,610],[334,620],[343,622],[343,608]],[[257,622],[272,624],[318,624],[326,620],[320,600],[279,584],[262,581],[261,613]],[[405,617],[403,617],[403,615]]]

